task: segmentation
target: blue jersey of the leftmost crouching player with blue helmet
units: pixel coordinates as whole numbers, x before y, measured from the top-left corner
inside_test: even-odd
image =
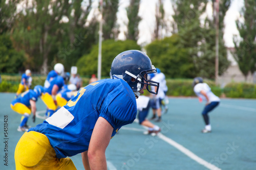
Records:
[[[19,98],[15,99],[14,101],[12,101],[12,105],[14,105],[15,103],[22,103],[26,106],[30,106],[29,101],[33,100],[33,101],[37,101],[37,94],[34,90],[27,90],[25,92],[23,92]]]

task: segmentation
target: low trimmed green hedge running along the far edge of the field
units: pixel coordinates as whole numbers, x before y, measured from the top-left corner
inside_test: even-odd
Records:
[[[35,85],[44,85],[46,76],[32,77],[32,88]],[[90,78],[82,77],[83,86],[88,85]],[[0,83],[0,92],[16,92],[20,76],[2,75],[2,83]],[[227,98],[248,98],[256,99],[256,85],[248,83],[229,83],[223,89],[216,86],[214,81],[205,81],[211,91],[217,96],[226,96]],[[166,80],[168,96],[196,96],[192,87],[192,79],[167,79]],[[144,95],[149,93],[145,91]]]

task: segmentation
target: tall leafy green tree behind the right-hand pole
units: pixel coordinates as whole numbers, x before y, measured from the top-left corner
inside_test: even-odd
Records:
[[[212,79],[215,78],[215,24],[214,20],[208,18],[205,18],[202,24],[202,19],[200,19],[202,13],[205,12],[207,2],[206,0],[178,0],[174,19],[177,23],[182,47],[187,48],[189,56],[193,58],[196,67],[195,73],[197,76]],[[225,7],[222,9],[223,11],[228,9],[228,5]],[[224,17],[224,15],[220,17]],[[220,30],[220,32],[223,31]],[[229,62],[223,39],[220,39],[219,42],[219,74],[221,75],[229,66]]]

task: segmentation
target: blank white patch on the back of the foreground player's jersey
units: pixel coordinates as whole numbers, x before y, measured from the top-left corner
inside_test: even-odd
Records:
[[[65,108],[61,107],[46,122],[58,128],[65,128],[74,119],[74,116]]]

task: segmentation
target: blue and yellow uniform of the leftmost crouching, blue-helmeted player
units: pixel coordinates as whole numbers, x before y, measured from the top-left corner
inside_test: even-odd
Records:
[[[24,127],[28,122],[28,117],[31,114],[30,100],[36,102],[37,98],[38,94],[34,90],[27,90],[19,98],[12,101],[12,110],[23,115],[19,127]]]

